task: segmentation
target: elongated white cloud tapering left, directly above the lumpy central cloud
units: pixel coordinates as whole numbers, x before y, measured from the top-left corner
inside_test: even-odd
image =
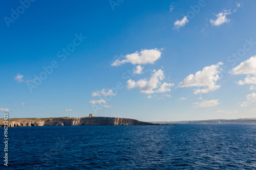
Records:
[[[152,50],[141,50],[141,52],[135,52],[133,54],[127,54],[124,56],[125,59],[115,60],[111,65],[119,66],[124,63],[132,63],[132,64],[154,64],[156,60],[161,57],[161,51],[157,48]]]

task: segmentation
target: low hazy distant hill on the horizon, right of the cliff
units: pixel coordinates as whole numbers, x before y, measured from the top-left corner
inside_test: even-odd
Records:
[[[212,119],[212,120],[187,120],[178,122],[150,122],[155,124],[256,124],[254,118],[239,118],[239,119]]]

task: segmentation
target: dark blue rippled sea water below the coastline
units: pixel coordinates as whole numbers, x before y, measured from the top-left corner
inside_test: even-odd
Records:
[[[16,127],[9,139],[9,169],[256,169],[256,125]]]

